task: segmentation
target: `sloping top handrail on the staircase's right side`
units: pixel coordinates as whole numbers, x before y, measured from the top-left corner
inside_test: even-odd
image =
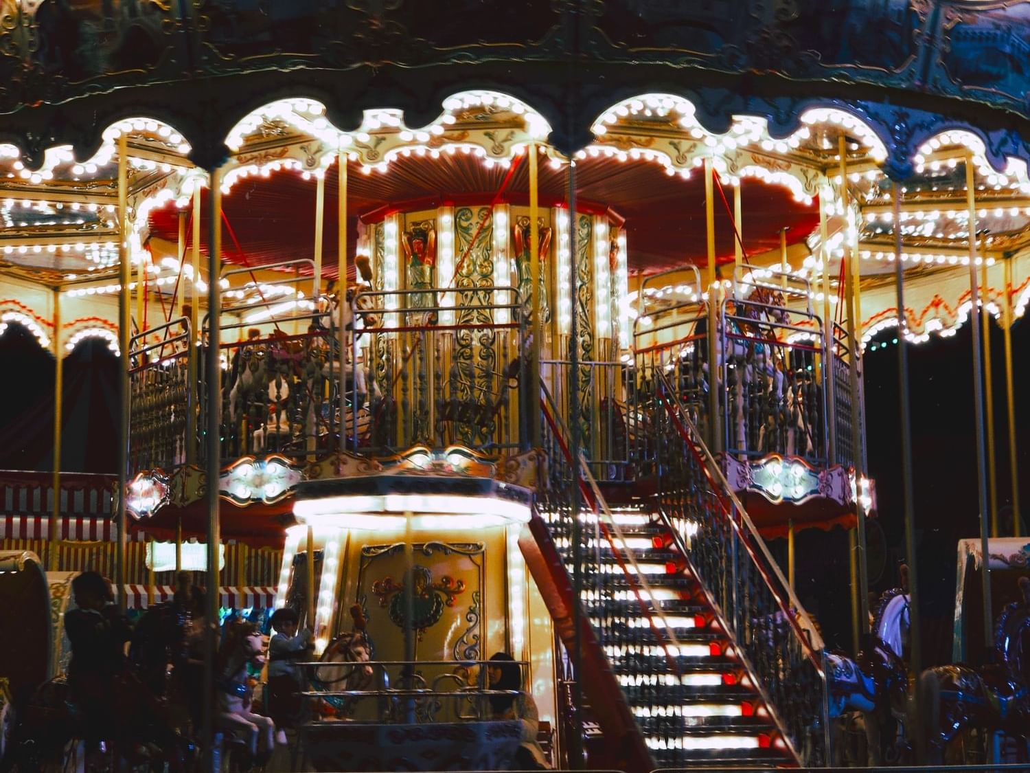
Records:
[[[709,482],[712,484],[712,491],[718,495],[720,505],[726,513],[726,516],[729,518],[729,523],[733,527],[733,531],[735,531],[737,536],[741,538],[741,544],[744,545],[745,549],[752,557],[752,560],[755,561],[758,571],[762,574],[769,591],[777,600],[777,604],[780,606],[780,611],[782,611],[786,618],[790,621],[791,628],[800,639],[801,645],[808,651],[813,664],[819,672],[822,673],[822,659],[819,656],[819,652],[825,647],[822,636],[819,635],[812,618],[809,617],[809,613],[804,611],[804,607],[801,606],[801,602],[798,601],[797,596],[795,596],[793,589],[787,581],[787,578],[784,577],[783,571],[780,569],[780,565],[777,563],[776,559],[772,558],[772,553],[769,552],[768,545],[765,544],[764,538],[759,534],[758,529],[755,527],[751,516],[748,515],[747,509],[736,496],[733,488],[729,484],[729,481],[726,480],[725,475],[723,475],[722,470],[719,467],[719,463],[716,461],[715,457],[712,456],[712,451],[709,450],[705,443],[694,440],[694,438],[699,438],[700,434],[698,433],[697,428],[694,427],[693,422],[690,421],[690,416],[687,414],[687,411],[683,409],[680,398],[673,391],[667,377],[660,370],[656,370],[655,373],[658,376],[662,392],[665,395],[672,396],[676,401],[675,408],[667,401],[665,402],[666,410],[670,412],[670,418],[673,419],[674,424],[680,425],[677,429],[679,430],[681,437],[693,453],[699,457],[698,461],[701,462],[701,469],[705,471],[705,474],[709,478]],[[691,437],[691,435],[693,437]],[[726,502],[724,501],[725,499],[728,499],[732,504],[732,508],[737,514],[736,518],[731,515],[730,508],[727,507]],[[763,566],[762,562],[757,561],[758,557],[755,554],[755,545],[757,545],[762,558],[765,559],[765,566]],[[789,602],[789,604],[784,601],[781,592],[777,590],[776,584],[771,581],[771,578],[768,576],[769,572],[771,572],[779,581],[779,585],[782,591],[786,593],[787,602]],[[798,624],[798,618],[800,618],[808,626],[806,630],[802,629]]]

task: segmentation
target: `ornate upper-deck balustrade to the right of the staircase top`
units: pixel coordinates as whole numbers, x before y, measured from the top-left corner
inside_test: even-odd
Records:
[[[652,374],[661,372],[710,442],[709,417],[716,408],[720,444],[736,459],[778,453],[817,467],[853,463],[850,355],[845,338],[834,336],[833,346],[827,347],[818,315],[767,300],[724,300],[716,318],[718,389],[713,401],[707,306],[695,297],[645,310],[633,330],[638,374],[628,388],[632,397],[642,394],[646,403]],[[630,416],[639,413],[634,408]],[[647,457],[645,433],[631,424],[629,434],[634,452]]]

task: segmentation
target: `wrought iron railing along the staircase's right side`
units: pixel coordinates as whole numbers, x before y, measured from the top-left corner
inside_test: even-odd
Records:
[[[798,760],[827,760],[823,643],[662,369],[646,411],[659,508]]]

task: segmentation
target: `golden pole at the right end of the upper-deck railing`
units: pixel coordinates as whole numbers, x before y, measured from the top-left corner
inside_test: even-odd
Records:
[[[843,204],[844,211],[848,211],[848,143],[845,139],[844,134],[840,135],[837,144],[838,152],[840,155],[840,202]],[[852,443],[852,457],[853,464],[855,466],[855,486],[856,491],[861,488],[862,474],[864,472],[863,465],[863,446],[864,442],[862,435],[864,428],[862,426],[862,406],[861,398],[859,397],[859,378],[858,378],[858,358],[859,358],[859,338],[861,336],[861,320],[858,320],[858,278],[859,273],[856,270],[854,262],[857,258],[855,251],[851,248],[851,244],[848,243],[847,232],[845,233],[845,304],[848,310],[848,343],[851,348],[851,357],[848,362],[848,376],[849,376],[849,386],[851,390],[851,426],[854,442]],[[857,565],[858,571],[853,573],[853,577],[857,576],[858,579],[858,631],[861,634],[866,634],[869,632],[869,600],[866,598],[866,589],[869,586],[869,581],[867,575],[867,568],[865,565],[865,513],[862,512],[861,504],[855,502],[855,520],[856,529],[854,535],[854,542],[851,542],[852,551],[851,554],[854,558],[854,562]]]

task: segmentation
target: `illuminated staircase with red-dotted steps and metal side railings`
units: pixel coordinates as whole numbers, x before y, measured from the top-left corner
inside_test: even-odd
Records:
[[[533,539],[520,541],[538,586],[557,589],[545,601],[582,653],[605,754],[633,771],[819,764],[821,641],[686,412],[657,388],[657,450],[639,471],[657,492],[633,500],[630,488],[610,507],[581,460],[578,520],[568,431],[545,397],[546,481]]]

